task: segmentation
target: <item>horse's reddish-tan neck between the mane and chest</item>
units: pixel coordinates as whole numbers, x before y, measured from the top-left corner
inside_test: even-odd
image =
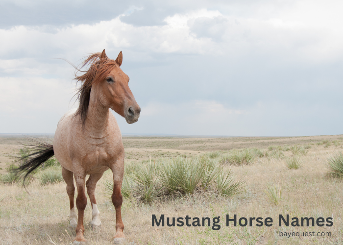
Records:
[[[84,130],[90,136],[102,137],[107,133],[109,108],[101,104],[97,92],[92,88]]]

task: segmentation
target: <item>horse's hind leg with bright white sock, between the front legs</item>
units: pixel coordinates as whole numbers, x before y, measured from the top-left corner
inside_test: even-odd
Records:
[[[91,221],[92,229],[96,229],[101,226],[100,212],[98,210],[97,200],[95,199],[95,188],[102,174],[103,172],[92,173],[86,182],[87,194],[92,204],[92,221]]]

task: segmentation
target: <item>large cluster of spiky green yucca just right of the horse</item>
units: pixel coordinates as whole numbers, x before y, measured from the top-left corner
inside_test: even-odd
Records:
[[[110,199],[113,182],[105,180],[102,183],[104,194]],[[126,166],[122,195],[145,203],[207,191],[233,196],[243,191],[244,183],[241,179],[235,181],[230,171],[223,171],[218,167],[218,161],[208,155],[163,158],[156,164]]]

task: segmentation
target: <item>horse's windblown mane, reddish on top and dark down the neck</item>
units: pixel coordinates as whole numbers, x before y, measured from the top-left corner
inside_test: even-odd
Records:
[[[77,98],[80,105],[77,108],[75,117],[79,116],[79,123],[82,123],[82,128],[86,122],[89,99],[93,84],[97,84],[106,78],[106,75],[117,66],[117,63],[107,57],[101,58],[101,53],[94,53],[86,57],[82,62],[81,67],[90,65],[88,71],[83,72],[82,75],[75,74],[76,84],[81,82],[81,86],[77,89]],[[77,69],[77,71],[80,71]]]

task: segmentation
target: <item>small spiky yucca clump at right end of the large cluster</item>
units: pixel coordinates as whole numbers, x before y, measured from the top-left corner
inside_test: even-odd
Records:
[[[234,180],[231,171],[224,172],[220,169],[217,174],[217,189],[223,196],[234,196],[244,191],[245,181]]]

